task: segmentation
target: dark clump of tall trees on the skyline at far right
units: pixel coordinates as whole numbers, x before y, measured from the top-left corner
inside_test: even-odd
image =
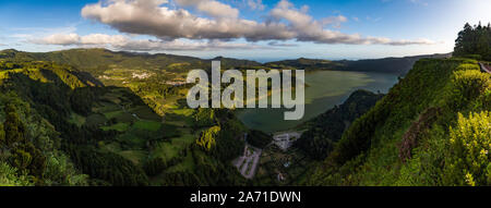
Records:
[[[491,61],[491,24],[467,23],[455,40],[454,56]]]

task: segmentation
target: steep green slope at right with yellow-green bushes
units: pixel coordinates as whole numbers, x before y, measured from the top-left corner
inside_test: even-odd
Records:
[[[310,185],[491,185],[491,74],[423,59],[336,144]]]

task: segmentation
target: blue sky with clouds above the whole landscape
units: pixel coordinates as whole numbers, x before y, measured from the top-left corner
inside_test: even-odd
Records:
[[[446,53],[490,10],[490,0],[0,0],[0,49],[263,62]]]

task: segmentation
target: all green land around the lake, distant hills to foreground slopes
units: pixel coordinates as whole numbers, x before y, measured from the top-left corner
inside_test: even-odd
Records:
[[[185,74],[209,60],[0,51],[0,185],[491,185],[491,75],[477,64],[490,60],[490,28],[465,26],[464,58],[216,58],[224,69],[405,75],[386,96],[356,91],[307,123],[288,151],[231,110],[187,107]],[[251,181],[231,166],[246,143],[264,148]]]

